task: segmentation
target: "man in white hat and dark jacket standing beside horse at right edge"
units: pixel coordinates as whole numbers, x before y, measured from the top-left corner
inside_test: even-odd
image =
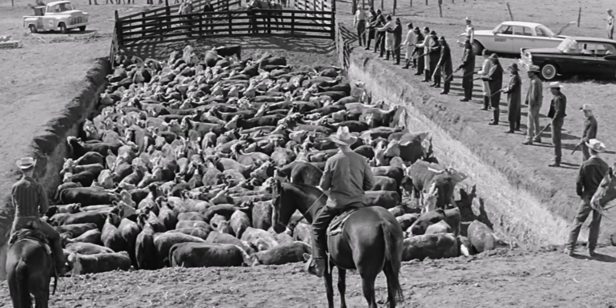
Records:
[[[594,248],[596,248],[597,239],[599,238],[601,214],[591,207],[590,201],[597,191],[599,184],[601,184],[601,180],[609,170],[609,166],[599,157],[599,153],[603,153],[606,150],[606,146],[602,142],[597,139],[590,139],[586,142],[586,146],[590,149],[591,156],[582,163],[580,172],[575,180],[577,194],[582,198],[582,201],[575,216],[571,233],[569,233],[569,241],[565,245],[564,253],[568,253],[569,256],[573,256],[573,253],[575,253],[575,242],[578,235],[580,235],[580,229],[591,212],[593,212],[593,220],[590,222],[590,232],[588,233],[588,254],[591,257],[595,256]]]

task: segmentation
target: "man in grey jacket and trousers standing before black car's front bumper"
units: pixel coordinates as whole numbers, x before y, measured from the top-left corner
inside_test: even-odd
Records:
[[[541,105],[543,105],[543,83],[539,79],[539,67],[537,65],[530,65],[527,75],[530,78],[529,92],[526,93],[525,105],[529,106],[528,112],[528,131],[526,142],[524,145],[532,145],[534,142],[541,142],[541,137],[535,137],[540,131],[539,128],[539,111]],[[534,139],[533,139],[534,138]]]

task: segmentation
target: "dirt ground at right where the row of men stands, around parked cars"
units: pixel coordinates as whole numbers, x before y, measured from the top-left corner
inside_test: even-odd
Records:
[[[570,26],[564,30],[565,35],[580,35],[580,36],[596,36],[606,37],[605,25],[607,20],[606,9],[613,5],[612,2],[598,1],[592,5],[578,4],[575,1],[531,1],[520,0],[510,2],[512,14],[515,20],[532,21],[543,23],[553,30],[559,29],[567,22],[577,19],[578,7],[582,6],[582,18],[580,27],[576,25]],[[557,5],[556,5],[557,4]],[[384,2],[384,11],[391,12],[393,1],[386,0]],[[375,1],[375,7],[381,7],[381,1]],[[338,5],[337,16],[339,20],[344,22],[349,29],[352,28],[352,15],[350,2],[342,2]],[[532,8],[532,13],[529,14],[529,9]],[[431,30],[435,30],[439,36],[443,35],[448,39],[450,47],[452,47],[453,65],[457,67],[461,62],[463,49],[456,44],[456,36],[464,31],[464,17],[470,17],[476,30],[492,29],[499,23],[509,20],[509,13],[505,2],[497,1],[471,1],[466,2],[455,1],[452,4],[450,1],[443,1],[443,16],[439,17],[439,9],[437,1],[429,1],[426,6],[424,1],[413,1],[413,7],[407,1],[398,2],[398,9],[395,17],[400,18],[403,25],[408,22],[413,22],[414,26],[423,28],[429,26]],[[406,31],[406,30],[405,30]],[[357,43],[354,43],[356,46]],[[371,54],[371,52],[370,52]],[[373,59],[376,59],[376,54],[373,54]],[[403,56],[402,56],[403,57]],[[383,61],[383,60],[377,60]],[[501,59],[501,64],[506,67],[510,63],[516,62],[514,59]],[[476,66],[480,67],[483,59],[477,57]],[[386,63],[383,61],[383,63]],[[396,72],[407,72],[401,67],[387,64],[391,70]],[[439,105],[441,110],[434,112],[433,116],[445,116],[452,118],[458,117],[458,120],[468,124],[478,136],[480,140],[476,140],[473,146],[476,149],[487,149],[498,153],[498,157],[502,160],[491,163],[495,165],[510,166],[510,169],[515,169],[519,173],[517,179],[510,176],[511,184],[514,186],[525,187],[527,182],[525,179],[533,179],[538,182],[535,187],[530,187],[529,190],[534,190],[532,193],[544,203],[546,208],[554,214],[564,217],[567,221],[572,221],[577,211],[579,198],[575,193],[575,176],[577,175],[578,167],[582,163],[582,153],[578,150],[575,154],[571,154],[575,145],[579,142],[582,136],[584,117],[578,109],[583,103],[593,103],[595,108],[595,116],[599,123],[598,139],[604,142],[608,148],[604,153],[604,160],[608,164],[614,162],[614,145],[616,144],[616,136],[610,134],[616,129],[616,124],[610,121],[614,117],[614,108],[610,105],[611,97],[616,94],[616,83],[609,80],[594,80],[582,78],[560,79],[565,87],[562,92],[567,95],[567,117],[565,118],[562,131],[562,166],[561,168],[549,168],[548,164],[553,160],[553,147],[551,147],[551,133],[546,131],[542,137],[541,144],[533,146],[523,146],[526,133],[526,107],[522,106],[522,132],[515,134],[505,134],[508,130],[508,121],[506,118],[506,95],[501,96],[501,123],[499,126],[488,126],[488,122],[492,119],[492,111],[480,111],[482,98],[480,97],[481,84],[476,81],[474,87],[474,96],[471,102],[460,102],[462,97],[460,73],[455,74],[455,79],[452,83],[452,91],[449,95],[439,95],[441,89],[432,89],[425,83],[420,83],[419,76],[413,76],[415,70],[410,70],[408,79],[411,80],[414,86],[421,89],[429,95],[434,95],[434,103]],[[524,75],[524,74],[522,74]],[[506,73],[503,76],[503,85],[508,83],[509,76]],[[528,78],[522,76],[522,94],[525,95]],[[549,94],[547,87],[544,87],[543,107],[541,108],[540,120],[541,126],[549,123],[549,118],[546,115],[549,110],[549,100],[552,95]],[[437,147],[437,145],[435,145]],[[488,157],[488,160],[490,158]],[[494,160],[495,158],[492,158]],[[609,241],[610,237],[614,237],[616,233],[616,224],[613,220],[604,219],[602,224],[602,240]]]

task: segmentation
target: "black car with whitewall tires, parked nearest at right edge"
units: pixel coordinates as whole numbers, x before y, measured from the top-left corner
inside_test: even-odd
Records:
[[[616,41],[569,36],[556,48],[522,48],[520,63],[541,68],[541,77],[591,75],[616,78]]]

